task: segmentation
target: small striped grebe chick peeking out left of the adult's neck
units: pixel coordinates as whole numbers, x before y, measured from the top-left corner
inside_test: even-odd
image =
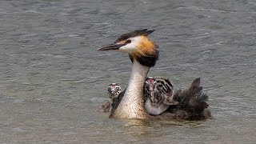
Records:
[[[111,111],[114,98],[118,98],[118,95],[121,93],[121,86],[119,86],[117,83],[111,83],[110,86],[107,87],[107,91],[110,101],[106,102],[98,109],[98,111],[104,113]]]

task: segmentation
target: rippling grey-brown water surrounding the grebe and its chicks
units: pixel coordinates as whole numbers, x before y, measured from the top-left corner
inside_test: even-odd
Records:
[[[1,143],[252,143],[256,141],[256,2],[0,2]],[[155,29],[150,76],[176,89],[202,78],[214,119],[109,119],[106,86],[125,87],[126,54],[97,52],[120,34]]]

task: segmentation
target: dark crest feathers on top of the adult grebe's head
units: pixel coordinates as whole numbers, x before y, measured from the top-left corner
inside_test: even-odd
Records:
[[[130,33],[122,34],[116,41],[114,41],[114,43],[121,42],[121,41],[126,40],[128,38],[134,38],[134,37],[139,36],[139,35],[148,35],[148,34],[151,34],[153,32],[154,32],[154,30],[147,30],[147,29],[134,30]]]

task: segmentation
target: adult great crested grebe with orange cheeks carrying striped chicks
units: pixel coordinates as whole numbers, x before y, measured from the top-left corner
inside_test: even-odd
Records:
[[[166,112],[151,116],[144,109],[144,94],[143,86],[146,81],[146,76],[150,67],[154,66],[158,60],[158,49],[154,42],[151,42],[147,37],[154,30],[135,30],[128,34],[122,34],[114,44],[102,46],[98,51],[117,50],[128,53],[130,60],[133,62],[133,69],[130,75],[130,82],[118,98],[114,98],[113,109],[110,113],[110,118],[139,118],[139,119],[206,119],[210,118],[210,111],[207,110],[207,104],[201,106],[199,101],[195,101],[195,97],[200,99],[201,86],[200,79],[195,79],[188,90],[179,93],[187,100],[179,102],[175,110],[166,110]],[[178,97],[177,96],[177,97]],[[199,98],[200,97],[200,98]],[[201,99],[200,99],[201,100]],[[193,102],[192,102],[193,101]],[[200,101],[201,102],[201,101]],[[202,102],[205,102],[202,101]],[[206,103],[206,102],[205,102]],[[192,104],[192,105],[190,105]],[[180,105],[180,106],[179,106]],[[198,106],[200,105],[200,106]],[[187,106],[187,107],[186,107]],[[202,109],[198,109],[198,107]],[[190,110],[191,109],[191,110]],[[194,110],[195,109],[195,110]]]

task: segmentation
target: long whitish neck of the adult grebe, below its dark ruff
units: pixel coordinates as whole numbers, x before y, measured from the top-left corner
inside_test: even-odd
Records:
[[[113,118],[146,118],[147,114],[143,107],[143,86],[149,70],[149,67],[142,66],[134,59],[130,82],[122,101],[114,111]]]

